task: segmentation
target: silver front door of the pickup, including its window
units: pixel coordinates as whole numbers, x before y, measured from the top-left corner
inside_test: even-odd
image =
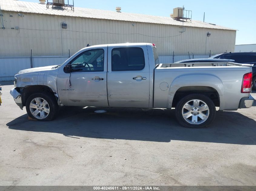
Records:
[[[86,50],[67,65],[71,70],[59,71],[57,78],[62,104],[108,107],[107,47]]]

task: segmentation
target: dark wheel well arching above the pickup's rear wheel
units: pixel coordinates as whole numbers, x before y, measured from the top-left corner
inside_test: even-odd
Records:
[[[203,94],[211,98],[216,107],[220,107],[220,97],[214,88],[208,86],[186,86],[179,88],[173,98],[172,107],[175,107],[179,100],[188,94]]]

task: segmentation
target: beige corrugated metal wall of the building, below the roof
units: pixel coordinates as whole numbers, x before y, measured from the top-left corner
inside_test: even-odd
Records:
[[[0,56],[71,55],[90,45],[126,42],[155,43],[159,56],[207,55],[234,51],[236,31],[174,25],[134,23],[46,14],[3,11],[5,30],[0,29]],[[10,17],[12,15],[12,17]],[[61,28],[65,22],[67,29]],[[134,26],[133,26],[134,25]],[[18,30],[11,29],[19,27]],[[210,32],[211,36],[207,37]]]

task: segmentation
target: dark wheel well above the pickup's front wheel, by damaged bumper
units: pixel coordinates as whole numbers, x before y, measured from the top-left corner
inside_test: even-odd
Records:
[[[55,95],[51,88],[45,85],[31,85],[24,88],[20,88],[20,93],[22,94],[22,105],[26,105],[28,97],[34,93],[49,93]]]

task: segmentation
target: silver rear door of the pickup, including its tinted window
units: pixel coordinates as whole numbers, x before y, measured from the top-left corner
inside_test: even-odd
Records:
[[[149,62],[146,46],[109,46],[107,72],[110,107],[149,107]]]

